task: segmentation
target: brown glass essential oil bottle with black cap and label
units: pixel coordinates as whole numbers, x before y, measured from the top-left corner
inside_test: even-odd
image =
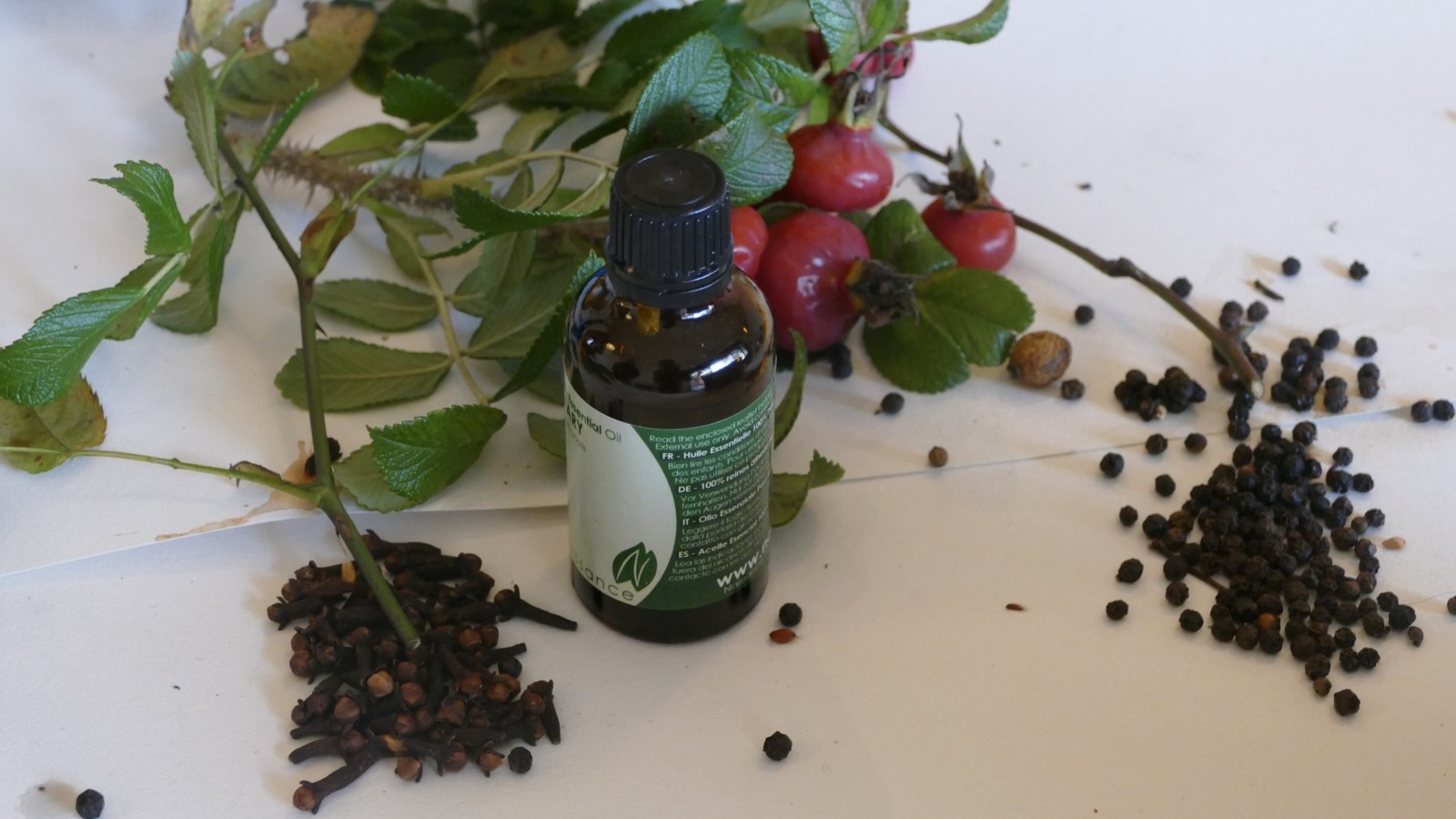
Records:
[[[728,222],[712,159],[628,160],[607,265],[566,321],[572,586],[642,640],[716,634],[767,581],[773,322]]]

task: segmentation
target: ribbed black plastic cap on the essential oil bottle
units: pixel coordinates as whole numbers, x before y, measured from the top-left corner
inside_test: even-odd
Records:
[[[712,159],[658,149],[622,163],[612,181],[607,264],[626,299],[690,307],[732,277],[728,181]]]

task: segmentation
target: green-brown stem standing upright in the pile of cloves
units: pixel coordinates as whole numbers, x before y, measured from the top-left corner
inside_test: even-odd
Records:
[[[399,634],[400,641],[406,647],[414,648],[419,644],[419,634],[415,632],[414,624],[405,615],[405,609],[399,605],[399,599],[395,597],[395,590],[390,587],[389,581],[384,580],[384,574],[379,568],[379,563],[374,561],[374,555],[370,554],[368,545],[364,544],[364,538],[360,535],[358,526],[349,517],[348,510],[344,509],[344,501],[339,500],[338,485],[333,482],[333,463],[329,458],[329,431],[328,424],[323,418],[323,382],[319,379],[319,337],[317,337],[317,319],[313,309],[313,280],[304,274],[303,259],[293,249],[293,243],[284,235],[282,227],[278,226],[278,220],[274,219],[272,210],[268,208],[268,201],[264,200],[262,194],[258,192],[258,187],[253,185],[252,178],[248,175],[248,169],[243,162],[233,152],[233,146],[227,141],[226,136],[220,136],[217,140],[218,152],[227,166],[233,171],[237,178],[237,187],[243,189],[243,195],[252,203],[253,210],[258,211],[258,217],[264,222],[264,227],[268,229],[268,236],[272,238],[274,245],[278,246],[278,252],[282,254],[284,261],[293,271],[293,277],[298,284],[298,326],[301,329],[301,345],[298,348],[300,358],[303,360],[303,383],[307,392],[309,404],[309,428],[313,437],[313,456],[317,465],[319,474],[319,509],[329,517],[333,523],[333,530],[338,532],[339,538],[349,549],[349,555],[354,563],[358,564],[360,574],[364,576],[364,583],[368,584],[370,590],[374,593],[374,599],[379,600],[380,608],[384,611],[384,616],[389,618],[389,624]]]

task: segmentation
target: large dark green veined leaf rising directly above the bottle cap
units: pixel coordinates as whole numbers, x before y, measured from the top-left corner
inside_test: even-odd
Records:
[[[699,3],[699,6],[706,3]],[[689,6],[696,7],[696,6]],[[644,15],[646,17],[649,15]],[[633,19],[642,19],[633,17]],[[732,73],[722,45],[708,34],[687,38],[652,73],[638,101],[622,143],[622,156],[661,146],[689,144],[709,130],[718,115]]]

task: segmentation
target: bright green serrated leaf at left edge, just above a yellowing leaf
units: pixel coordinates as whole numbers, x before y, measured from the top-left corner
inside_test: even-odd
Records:
[[[55,305],[0,350],[0,398],[35,407],[57,401],[111,328],[146,297],[140,287],[92,290]]]

